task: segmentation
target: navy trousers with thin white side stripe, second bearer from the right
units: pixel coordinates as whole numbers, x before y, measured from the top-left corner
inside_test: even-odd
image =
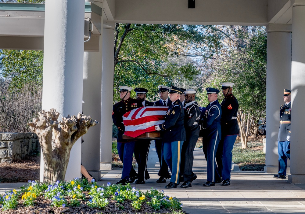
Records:
[[[215,169],[216,169],[216,151],[219,144],[218,131],[210,133],[208,136],[203,136],[202,147],[203,153],[206,158],[207,171],[206,181],[215,182]]]

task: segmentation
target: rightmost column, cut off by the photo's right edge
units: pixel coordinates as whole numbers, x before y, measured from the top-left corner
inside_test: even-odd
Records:
[[[305,0],[291,0],[291,143],[290,183],[305,183]]]

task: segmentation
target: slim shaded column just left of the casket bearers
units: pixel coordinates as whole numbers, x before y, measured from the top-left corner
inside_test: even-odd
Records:
[[[114,22],[103,24],[100,169],[112,169]]]

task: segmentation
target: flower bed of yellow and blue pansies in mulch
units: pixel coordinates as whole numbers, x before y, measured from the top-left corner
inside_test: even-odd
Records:
[[[0,205],[1,213],[183,213],[180,201],[164,196],[163,190],[99,186],[78,178],[54,185],[29,181],[20,191],[6,191]]]

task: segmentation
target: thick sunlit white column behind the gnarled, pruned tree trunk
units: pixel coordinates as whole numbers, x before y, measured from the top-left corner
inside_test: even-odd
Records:
[[[82,111],[84,5],[84,0],[45,3],[42,109],[56,108],[59,118]],[[80,165],[79,139],[72,147],[65,179],[79,177]],[[40,175],[42,181],[43,173]]]

